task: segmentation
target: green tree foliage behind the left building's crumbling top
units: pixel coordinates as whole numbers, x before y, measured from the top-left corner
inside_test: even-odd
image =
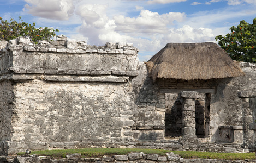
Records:
[[[13,18],[10,19],[10,22],[4,21],[2,17],[0,17],[0,21],[0,40],[5,41],[23,36],[28,37],[34,43],[38,43],[39,40],[49,41],[52,37],[56,36],[55,32],[59,32],[58,29],[48,27],[35,28],[35,23],[32,25],[25,23],[21,20],[21,17],[19,17],[19,22]]]

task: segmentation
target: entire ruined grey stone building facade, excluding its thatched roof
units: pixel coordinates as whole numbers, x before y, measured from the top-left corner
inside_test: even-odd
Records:
[[[148,76],[132,43],[58,37],[1,42],[0,154],[25,149],[162,148],[247,152],[256,65],[245,76]],[[186,85],[191,89],[175,89]],[[202,88],[203,89],[198,89]]]

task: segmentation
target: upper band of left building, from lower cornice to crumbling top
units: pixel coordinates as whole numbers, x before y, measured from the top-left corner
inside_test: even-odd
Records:
[[[0,80],[29,80],[43,74],[44,80],[53,81],[126,82],[138,75],[139,49],[132,43],[91,46],[61,35],[38,44],[18,37],[0,42],[0,48]]]

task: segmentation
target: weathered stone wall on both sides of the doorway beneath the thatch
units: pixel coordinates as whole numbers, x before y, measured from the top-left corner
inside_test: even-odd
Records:
[[[135,118],[136,128],[133,130],[136,138],[140,140],[169,140],[164,136],[164,130],[171,117],[166,120],[167,114],[175,114],[172,120],[175,120],[177,125],[182,128],[182,120],[178,121],[175,116],[182,112],[182,101],[178,97],[178,93],[164,93],[161,89],[177,89],[186,87],[188,89],[195,88],[215,88],[214,93],[200,93],[199,98],[195,101],[196,120],[197,116],[204,117],[204,122],[197,122],[197,129],[204,129],[204,142],[222,142],[222,143],[237,143],[244,148],[248,148],[251,141],[252,131],[248,129],[249,123],[252,122],[252,112],[249,109],[248,98],[255,96],[256,90],[256,71],[255,64],[240,63],[240,67],[246,73],[246,76],[227,79],[213,80],[162,80],[158,79],[153,83],[150,77],[147,76],[145,65],[141,64],[139,75],[134,78],[135,90]],[[141,73],[144,72],[144,73]],[[241,95],[251,92],[249,95]],[[253,93],[254,92],[254,93]],[[253,94],[253,95],[252,95]],[[171,107],[176,107],[176,112],[171,112]],[[174,108],[175,110],[175,108]],[[204,112],[203,112],[204,111]],[[176,115],[177,114],[177,115]],[[201,120],[201,119],[200,119]],[[199,120],[198,120],[199,121]],[[158,127],[156,127],[158,122]],[[180,131],[181,131],[180,128]],[[178,130],[178,128],[175,128]],[[206,130],[207,129],[207,130]],[[198,134],[198,133],[197,133]],[[141,136],[144,139],[141,139]],[[181,132],[173,137],[181,136]],[[171,136],[172,137],[172,136]],[[172,139],[170,139],[172,141]]]

